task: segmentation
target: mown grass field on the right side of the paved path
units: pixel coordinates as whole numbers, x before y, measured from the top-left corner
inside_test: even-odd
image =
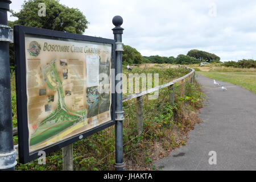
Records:
[[[200,69],[200,71],[198,71],[198,69]],[[196,70],[197,73],[205,77],[230,82],[232,84],[242,86],[243,88],[256,93],[256,69],[227,67],[196,67]]]

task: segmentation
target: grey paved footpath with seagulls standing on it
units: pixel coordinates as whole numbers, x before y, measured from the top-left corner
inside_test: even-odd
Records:
[[[240,86],[196,76],[207,96],[185,146],[155,162],[162,170],[256,170],[256,94]],[[209,164],[216,151],[217,164]],[[213,160],[210,160],[213,161]]]

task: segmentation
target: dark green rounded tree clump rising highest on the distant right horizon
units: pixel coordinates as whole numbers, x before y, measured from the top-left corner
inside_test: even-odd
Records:
[[[192,50],[188,51],[187,56],[194,57],[197,60],[199,60],[200,62],[204,61],[204,60],[209,63],[220,61],[220,57],[214,55],[214,53],[200,51],[197,49],[192,49]]]

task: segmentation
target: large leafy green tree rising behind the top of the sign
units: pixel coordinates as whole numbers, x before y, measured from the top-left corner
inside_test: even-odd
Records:
[[[46,5],[46,16],[39,16],[39,3]],[[88,20],[79,9],[61,5],[59,0],[28,0],[24,1],[19,12],[10,10],[12,16],[18,18],[14,22],[9,21],[9,26],[14,24],[46,28],[49,30],[64,31],[73,34],[82,34],[88,28]],[[14,66],[14,46],[10,44],[10,65]]]

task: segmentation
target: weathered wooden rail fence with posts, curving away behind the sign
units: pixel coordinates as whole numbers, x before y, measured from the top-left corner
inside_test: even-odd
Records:
[[[179,67],[183,67],[179,65]],[[137,133],[140,135],[143,131],[143,96],[146,94],[153,93],[157,90],[169,87],[173,90],[173,92],[170,93],[170,103],[174,104],[174,93],[175,93],[175,87],[174,84],[179,83],[180,84],[180,97],[184,97],[185,94],[185,81],[193,82],[195,79],[195,70],[189,67],[185,67],[189,69],[191,72],[189,72],[187,75],[177,78],[171,82],[168,82],[167,84],[163,84],[160,86],[156,86],[154,88],[143,90],[139,93],[130,94],[129,96],[123,97],[123,102],[133,100],[134,98],[137,98],[136,102],[136,118],[137,118]],[[18,130],[15,127],[13,129],[13,135],[18,135]],[[18,144],[14,146],[14,148],[17,150],[16,159],[18,159]],[[72,171],[73,170],[73,144],[70,144],[69,146],[66,146],[62,148],[62,154],[63,154],[63,170],[65,171]]]

